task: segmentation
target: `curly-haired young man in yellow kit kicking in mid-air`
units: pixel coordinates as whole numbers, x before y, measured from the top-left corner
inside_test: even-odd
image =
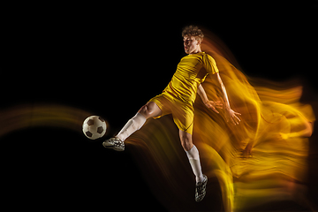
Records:
[[[117,151],[125,149],[125,139],[132,133],[139,130],[149,117],[163,117],[172,114],[173,120],[179,129],[181,145],[186,151],[189,162],[196,179],[195,201],[202,201],[206,194],[208,178],[202,174],[198,149],[193,145],[193,103],[196,94],[201,96],[204,104],[216,113],[216,108],[222,109],[221,102],[212,102],[204,91],[201,83],[209,74],[216,75],[220,87],[223,90],[225,110],[234,125],[239,124],[239,113],[231,110],[230,102],[216,67],[216,61],[201,51],[203,34],[198,27],[186,27],[182,36],[186,57],[183,57],[178,64],[177,71],[173,75],[169,85],[163,90],[163,94],[150,99],[142,106],[137,114],[131,118],[123,129],[114,137],[105,140],[102,145],[105,148],[112,148]],[[213,78],[214,79],[214,78]]]

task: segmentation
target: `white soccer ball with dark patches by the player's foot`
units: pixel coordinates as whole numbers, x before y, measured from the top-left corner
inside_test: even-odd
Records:
[[[101,138],[106,133],[106,122],[102,117],[87,117],[83,123],[83,133],[90,140]]]

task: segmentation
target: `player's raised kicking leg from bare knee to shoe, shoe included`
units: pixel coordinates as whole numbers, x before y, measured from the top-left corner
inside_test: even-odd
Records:
[[[155,104],[155,102],[148,102],[142,106],[137,114],[128,120],[123,129],[109,140],[105,140],[102,145],[105,148],[112,148],[117,151],[124,151],[124,141],[134,132],[139,130],[145,124],[148,117],[157,117],[162,114],[162,110]]]

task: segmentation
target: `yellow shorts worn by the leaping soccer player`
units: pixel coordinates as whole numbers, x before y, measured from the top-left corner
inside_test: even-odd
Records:
[[[155,102],[156,105],[163,111],[159,117],[167,114],[172,114],[174,123],[178,129],[186,133],[193,133],[193,105],[190,102],[180,101],[168,93],[156,95],[149,102]],[[158,118],[158,117],[154,117]]]

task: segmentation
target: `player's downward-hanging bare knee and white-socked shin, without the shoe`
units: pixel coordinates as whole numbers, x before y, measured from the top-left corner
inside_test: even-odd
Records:
[[[199,150],[193,145],[192,134],[179,130],[181,145],[186,151],[190,165],[197,183],[203,182],[204,177],[201,170]]]

